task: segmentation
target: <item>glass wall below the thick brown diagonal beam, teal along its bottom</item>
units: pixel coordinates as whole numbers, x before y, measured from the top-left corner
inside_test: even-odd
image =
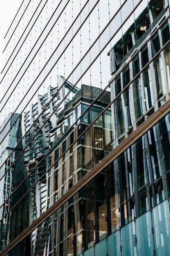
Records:
[[[26,244],[31,255],[102,255],[107,249],[111,252],[110,243],[113,255],[166,255],[170,161],[164,156],[170,153],[169,132],[170,114],[79,189],[8,255],[23,252]],[[162,143],[158,145],[159,140]],[[35,236],[38,233],[41,240]]]

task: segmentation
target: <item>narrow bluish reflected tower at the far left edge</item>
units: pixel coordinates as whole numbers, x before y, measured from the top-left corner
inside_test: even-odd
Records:
[[[12,114],[9,114],[9,117],[11,116]],[[21,117],[18,114],[13,115],[7,129],[9,134],[5,140],[5,132],[1,133],[0,138],[3,141],[0,150],[0,175],[2,177],[0,185],[0,250],[9,245],[10,240],[26,228],[29,220],[27,201],[22,203],[22,207],[21,203],[18,204],[17,209],[13,211],[13,206],[17,202],[17,198],[13,196],[13,191],[20,185],[25,176],[21,143]],[[26,193],[24,187],[22,187],[22,193]],[[9,211],[10,214],[7,214]],[[17,222],[17,225],[15,225],[15,222]]]

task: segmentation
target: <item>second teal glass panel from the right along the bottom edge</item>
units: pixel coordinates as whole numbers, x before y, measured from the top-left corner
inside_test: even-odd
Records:
[[[137,237],[137,255],[153,255],[154,243],[150,211],[136,219],[135,227]]]

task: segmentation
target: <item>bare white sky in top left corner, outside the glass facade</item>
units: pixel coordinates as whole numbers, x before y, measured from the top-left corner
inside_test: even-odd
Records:
[[[5,47],[4,36],[7,33],[23,0],[0,1],[0,73],[4,67],[3,50]]]

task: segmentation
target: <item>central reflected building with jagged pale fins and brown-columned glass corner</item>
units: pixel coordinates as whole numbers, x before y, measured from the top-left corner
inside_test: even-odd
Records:
[[[64,81],[62,77],[59,79]],[[108,126],[107,120],[111,120],[111,110],[108,109],[103,118],[95,120],[104,107],[110,103],[110,92],[105,92],[102,100],[98,101],[93,108],[89,108],[85,115],[82,115],[90,103],[102,92],[99,88],[82,85],[80,90],[73,89],[73,98],[66,98],[63,108],[59,107],[56,112],[54,106],[60,105],[66,95],[65,88],[71,90],[72,87],[71,83],[65,83],[51,103],[49,101],[54,92],[57,92],[57,88],[48,87],[48,92],[44,96],[39,95],[38,102],[24,114],[23,134],[25,134],[25,138],[22,140],[22,144],[25,148],[24,164],[30,182],[28,188],[31,189],[29,194],[30,224],[111,151],[113,129],[111,124],[109,124],[109,128],[105,127]],[[48,107],[44,110],[48,103]],[[75,122],[76,120],[78,121]],[[83,135],[77,140],[94,120],[91,130],[86,132],[86,136]],[[70,131],[67,134],[69,128]],[[74,138],[77,140],[75,143]],[[31,188],[31,185],[35,183],[36,185]],[[88,225],[92,222],[91,219]],[[49,220],[45,221],[44,225],[33,232],[31,236],[32,255],[44,250],[43,244],[48,246],[49,223]],[[41,241],[40,236],[42,237]],[[81,236],[79,236],[80,238]],[[51,239],[55,239],[53,234],[51,234]]]

